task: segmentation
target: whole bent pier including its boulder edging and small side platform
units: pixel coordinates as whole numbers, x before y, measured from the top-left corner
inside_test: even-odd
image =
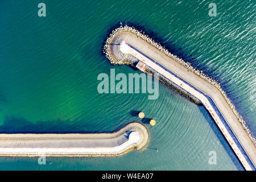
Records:
[[[114,30],[106,40],[104,52],[112,64],[138,63],[137,68],[141,71],[147,65],[198,98],[212,115],[243,167],[255,170],[255,138],[216,81],[131,27]]]

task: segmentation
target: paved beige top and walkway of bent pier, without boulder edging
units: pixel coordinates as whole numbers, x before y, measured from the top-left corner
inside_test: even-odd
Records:
[[[245,169],[255,170],[255,145],[238,121],[232,108],[215,86],[195,73],[188,71],[183,65],[139,38],[133,32],[118,32],[111,43],[122,43],[121,46],[109,46],[109,52],[115,60],[118,59],[120,49],[122,52],[131,53],[149,67],[199,98],[212,115]]]

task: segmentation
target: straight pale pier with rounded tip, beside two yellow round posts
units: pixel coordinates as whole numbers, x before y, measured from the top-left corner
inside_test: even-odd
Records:
[[[113,133],[0,134],[0,156],[119,156],[142,149],[148,138],[138,122]]]

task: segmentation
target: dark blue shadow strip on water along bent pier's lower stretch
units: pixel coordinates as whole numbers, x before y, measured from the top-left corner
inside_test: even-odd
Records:
[[[234,153],[232,148],[230,147],[228,141],[224,137],[224,135],[221,133],[220,129],[218,128],[217,124],[214,122],[213,118],[210,116],[210,113],[207,109],[205,109],[204,106],[197,106],[199,107],[201,113],[203,114],[204,118],[208,122],[209,126],[213,130],[213,133],[216,135],[218,140],[220,141],[221,145],[225,148],[226,152],[228,153],[230,159],[234,163],[234,165],[237,167],[238,170],[245,170],[240,162],[240,160],[237,158],[237,155]]]

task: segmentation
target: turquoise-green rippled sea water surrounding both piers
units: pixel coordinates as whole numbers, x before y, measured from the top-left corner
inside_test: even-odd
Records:
[[[46,17],[38,3],[46,3]],[[100,73],[139,73],[113,66],[102,43],[114,26],[142,28],[172,53],[216,78],[256,134],[255,3],[216,1],[1,1],[0,133],[113,131],[143,110],[156,125],[143,151],[117,158],[0,157],[0,169],[243,169],[213,119],[166,86],[148,94],[99,94]],[[151,148],[158,148],[158,152]],[[208,164],[216,151],[217,164]]]

